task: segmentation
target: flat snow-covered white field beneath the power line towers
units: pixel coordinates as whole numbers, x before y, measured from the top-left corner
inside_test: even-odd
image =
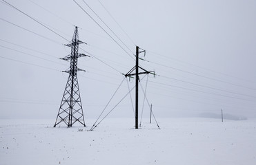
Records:
[[[164,118],[135,130],[133,119],[106,119],[94,131],[93,120],[54,122],[0,120],[0,164],[256,164],[256,120]]]

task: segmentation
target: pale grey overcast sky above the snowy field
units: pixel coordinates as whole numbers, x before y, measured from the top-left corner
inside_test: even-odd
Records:
[[[68,80],[61,71],[70,65],[59,58],[70,54],[75,26],[87,43],[79,52],[90,53],[78,61],[85,118],[99,116],[135,66],[135,45],[146,50],[139,65],[157,74],[140,76],[148,102],[139,88],[139,118],[142,109],[148,118],[148,104],[156,118],[221,109],[256,118],[256,1],[6,2],[21,12],[0,1],[0,118],[54,122]],[[106,111],[134,85],[125,79]],[[130,94],[108,118],[134,117]]]

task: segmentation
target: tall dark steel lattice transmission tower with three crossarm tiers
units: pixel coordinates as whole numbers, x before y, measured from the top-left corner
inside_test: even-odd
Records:
[[[66,71],[69,74],[68,82],[61,100],[59,112],[56,118],[55,126],[64,122],[68,127],[79,122],[86,126],[83,117],[83,108],[81,104],[80,91],[77,79],[77,71],[84,71],[77,68],[77,59],[79,57],[87,56],[86,54],[79,54],[79,44],[83,42],[78,40],[78,30],[75,27],[75,32],[72,38],[72,42],[66,46],[71,47],[71,54],[61,58],[65,61],[70,61],[70,68]],[[54,127],[55,127],[54,126]]]

